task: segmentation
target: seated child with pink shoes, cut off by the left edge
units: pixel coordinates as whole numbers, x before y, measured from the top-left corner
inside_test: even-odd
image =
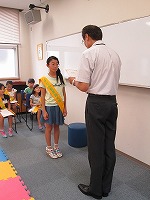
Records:
[[[5,92],[5,86],[0,83],[0,110],[7,108],[10,110],[10,97],[9,95],[4,94]],[[8,135],[11,137],[13,135],[12,131],[12,116],[8,116]],[[7,135],[4,131],[4,117],[0,113],[0,134],[2,137],[7,138]]]

